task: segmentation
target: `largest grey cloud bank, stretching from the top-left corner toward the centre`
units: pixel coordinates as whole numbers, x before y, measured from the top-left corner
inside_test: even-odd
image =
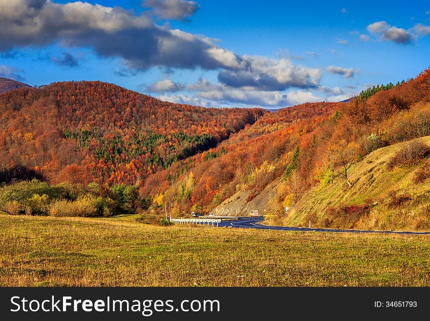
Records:
[[[159,26],[148,15],[86,2],[0,0],[0,39],[1,51],[56,42],[91,47],[99,56],[122,58],[138,70],[229,67],[214,57],[216,46],[206,37]]]

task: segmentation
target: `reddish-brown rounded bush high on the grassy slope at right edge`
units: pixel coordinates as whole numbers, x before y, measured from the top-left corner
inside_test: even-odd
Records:
[[[421,140],[414,140],[396,152],[387,164],[388,169],[396,166],[414,166],[430,155],[430,146]]]

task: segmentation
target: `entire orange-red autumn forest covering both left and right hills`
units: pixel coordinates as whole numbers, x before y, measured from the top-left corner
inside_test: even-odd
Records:
[[[243,204],[258,197],[252,204],[265,204],[268,214],[285,218],[288,206],[296,213],[289,222],[302,224],[309,193],[331,184],[352,191],[351,168],[366,155],[430,135],[429,100],[430,69],[346,103],[277,112],[171,104],[100,82],[21,88],[0,95],[1,179],[39,180],[3,187],[0,203],[16,213],[33,206],[53,215],[67,205],[59,199],[81,202],[73,211],[82,215],[157,214],[167,204],[183,216],[219,206],[229,214],[240,199],[234,214],[246,215]],[[421,166],[429,155],[407,155],[392,166]],[[421,176],[430,178],[425,170]],[[24,197],[24,190],[32,192]],[[10,204],[17,191],[22,197]],[[92,207],[79,210],[82,204]],[[321,215],[314,221],[327,222]]]

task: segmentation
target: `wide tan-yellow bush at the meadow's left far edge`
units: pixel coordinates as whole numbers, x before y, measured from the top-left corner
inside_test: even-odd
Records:
[[[51,205],[50,214],[56,217],[96,216],[97,209],[93,205],[94,201],[87,196],[80,197],[76,201],[56,200]]]

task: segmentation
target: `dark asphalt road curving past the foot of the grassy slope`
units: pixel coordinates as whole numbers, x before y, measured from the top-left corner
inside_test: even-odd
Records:
[[[237,221],[222,221],[219,227],[236,227],[259,230],[280,230],[280,231],[303,231],[303,232],[337,232],[337,233],[385,233],[385,234],[417,234],[430,235],[430,232],[410,232],[410,231],[367,231],[367,230],[344,230],[344,229],[309,229],[304,227],[288,226],[268,226],[259,224],[264,217],[239,217]]]

